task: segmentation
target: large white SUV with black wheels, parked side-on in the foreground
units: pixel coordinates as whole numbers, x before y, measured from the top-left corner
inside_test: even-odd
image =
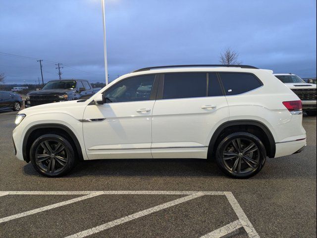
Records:
[[[266,157],[306,145],[300,99],[271,70],[248,65],[143,68],[88,100],[24,109],[15,123],[17,158],[49,177],[77,160],[199,158],[247,178]]]

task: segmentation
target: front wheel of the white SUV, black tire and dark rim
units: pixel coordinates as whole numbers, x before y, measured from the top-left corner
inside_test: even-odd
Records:
[[[56,134],[37,138],[30,149],[34,169],[47,177],[60,177],[75,166],[75,152],[68,139]]]

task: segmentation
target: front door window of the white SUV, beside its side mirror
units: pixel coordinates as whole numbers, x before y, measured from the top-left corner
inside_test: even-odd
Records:
[[[124,79],[106,91],[106,102],[120,103],[150,100],[155,75]]]

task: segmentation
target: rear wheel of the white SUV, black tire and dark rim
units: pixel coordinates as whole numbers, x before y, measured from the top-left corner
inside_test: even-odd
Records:
[[[218,144],[215,154],[220,170],[227,176],[240,179],[258,174],[266,159],[262,141],[248,132],[235,132],[225,136]]]

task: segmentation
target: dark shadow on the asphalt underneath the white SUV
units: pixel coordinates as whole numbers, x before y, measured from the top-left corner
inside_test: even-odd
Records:
[[[31,163],[23,167],[26,175],[39,175]],[[113,159],[80,161],[65,177],[149,176],[224,177],[213,161],[203,159]]]

